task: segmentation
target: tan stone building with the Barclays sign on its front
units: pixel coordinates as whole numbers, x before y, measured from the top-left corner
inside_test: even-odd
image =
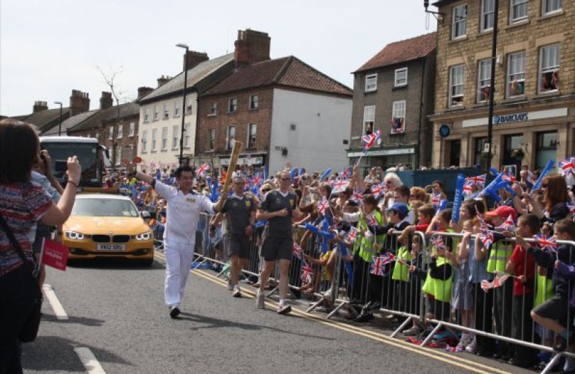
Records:
[[[499,1],[495,87],[490,87],[495,1],[441,0],[437,27],[433,166],[484,163],[494,93],[492,165],[575,153],[574,1]],[[439,136],[448,125],[450,135]]]

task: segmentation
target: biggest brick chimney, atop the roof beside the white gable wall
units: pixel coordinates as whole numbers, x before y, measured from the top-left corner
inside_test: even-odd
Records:
[[[255,64],[269,60],[269,45],[271,38],[267,33],[256,30],[238,30],[238,40],[234,46],[233,57],[236,59],[236,67]]]

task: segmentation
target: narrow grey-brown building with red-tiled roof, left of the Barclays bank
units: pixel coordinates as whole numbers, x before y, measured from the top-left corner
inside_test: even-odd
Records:
[[[391,43],[354,74],[351,163],[362,155],[362,135],[381,131],[381,143],[360,168],[431,163],[436,33]]]

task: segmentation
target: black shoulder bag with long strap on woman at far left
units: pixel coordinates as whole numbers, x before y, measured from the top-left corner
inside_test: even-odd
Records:
[[[0,225],[2,226],[4,232],[6,232],[6,235],[8,235],[8,239],[10,239],[10,242],[14,246],[16,252],[18,253],[18,256],[20,256],[22,261],[24,261],[24,266],[28,267],[28,269],[30,270],[30,276],[32,276],[33,283],[35,285],[34,306],[30,311],[28,319],[26,319],[26,323],[24,323],[24,326],[22,326],[18,335],[19,341],[21,341],[22,343],[29,343],[30,341],[35,341],[38,335],[38,330],[40,328],[40,319],[42,318],[42,301],[44,301],[44,296],[42,294],[42,290],[40,290],[38,279],[34,275],[35,271],[33,266],[31,266],[30,262],[26,260],[26,256],[24,256],[24,251],[22,251],[20,243],[18,242],[18,240],[16,240],[14,233],[12,233],[12,230],[10,230],[10,227],[8,227],[8,224],[1,215],[0,215]]]

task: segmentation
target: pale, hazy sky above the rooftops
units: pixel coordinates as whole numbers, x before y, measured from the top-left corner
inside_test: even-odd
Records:
[[[119,71],[116,87],[133,99],[182,71],[175,44],[218,57],[245,28],[269,34],[272,58],[295,55],[352,87],[351,72],[386,44],[434,31],[426,19],[423,0],[1,0],[0,114],[67,106],[72,89],[96,109],[107,91],[97,66]]]

